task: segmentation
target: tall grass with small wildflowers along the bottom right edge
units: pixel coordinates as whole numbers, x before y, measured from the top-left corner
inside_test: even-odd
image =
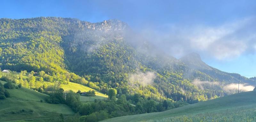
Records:
[[[148,122],[256,122],[256,108],[240,107],[195,115],[184,115]]]

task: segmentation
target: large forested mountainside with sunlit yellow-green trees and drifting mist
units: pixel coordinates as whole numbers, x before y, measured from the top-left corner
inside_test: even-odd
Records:
[[[115,88],[117,98],[126,94],[127,100],[136,94],[141,99],[159,101],[161,96],[195,103],[234,93],[223,87],[237,83],[238,74],[212,68],[200,56],[175,59],[145,54],[140,49],[147,51],[150,44],[134,46],[132,38],[126,37],[128,31],[132,30],[119,20],[90,23],[57,17],[2,18],[0,66],[2,70],[56,74],[60,77],[51,82],[77,82],[102,93]],[[76,74],[80,77],[74,79]],[[255,78],[240,80],[255,85]],[[133,104],[138,102],[133,100]]]

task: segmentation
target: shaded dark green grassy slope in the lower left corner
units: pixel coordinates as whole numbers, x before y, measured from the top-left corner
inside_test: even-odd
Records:
[[[4,84],[4,81],[0,81]],[[7,89],[10,98],[0,100],[0,121],[58,117],[60,113],[74,114],[64,104],[40,102],[48,95],[27,88]],[[24,111],[22,111],[22,109]]]

